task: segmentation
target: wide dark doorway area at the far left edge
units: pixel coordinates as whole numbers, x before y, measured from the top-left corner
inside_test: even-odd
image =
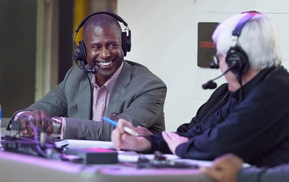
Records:
[[[0,1],[2,117],[34,102],[36,0]]]

